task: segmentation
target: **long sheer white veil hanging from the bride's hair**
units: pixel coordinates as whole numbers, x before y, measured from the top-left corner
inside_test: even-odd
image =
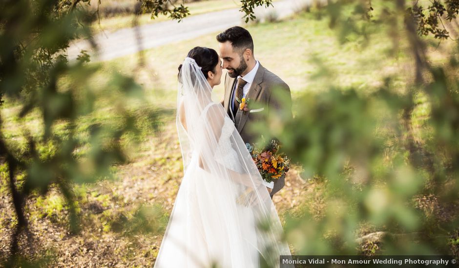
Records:
[[[279,255],[291,254],[282,241],[279,217],[244,141],[223,106],[212,102],[211,91],[201,67],[187,57],[179,73],[176,123],[184,180],[187,174],[193,174],[197,180],[196,184],[187,185],[196,187],[196,196],[188,196],[192,199],[188,202],[194,206],[192,213],[199,213],[194,221],[204,225],[202,235],[207,246],[215,249],[219,265],[237,267],[238,261],[250,259],[251,264],[259,267],[259,260],[264,259],[270,267],[278,267]],[[212,233],[215,225],[218,230]],[[165,239],[167,235],[168,231]],[[213,241],[217,238],[220,241]],[[219,247],[225,248],[224,256],[219,255]],[[192,251],[186,247],[185,250]],[[248,263],[241,265],[252,267]]]

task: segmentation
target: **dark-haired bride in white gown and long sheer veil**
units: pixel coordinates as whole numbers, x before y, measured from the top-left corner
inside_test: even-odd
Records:
[[[195,47],[179,67],[177,131],[184,177],[155,268],[279,267],[291,255],[263,179],[234,123],[212,102],[221,60]]]

